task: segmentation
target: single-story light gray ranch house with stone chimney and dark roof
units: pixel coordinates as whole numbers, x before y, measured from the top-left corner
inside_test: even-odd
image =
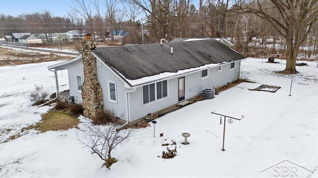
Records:
[[[57,87],[56,71],[68,69],[70,92],[66,96],[82,104],[86,91],[84,78],[95,76],[94,81],[99,82],[96,85],[100,88],[93,93],[101,99],[100,108],[113,111],[116,117],[127,122],[194,98],[204,89],[218,88],[237,80],[240,60],[245,58],[215,39],[176,43],[162,43],[161,40],[160,44],[83,51],[92,54],[93,62],[88,63],[86,55],[82,54],[48,66],[55,72]],[[87,64],[92,69],[85,69]],[[102,91],[100,95],[98,90]]]

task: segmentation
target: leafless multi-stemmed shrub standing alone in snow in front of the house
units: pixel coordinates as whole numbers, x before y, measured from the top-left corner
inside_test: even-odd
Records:
[[[94,125],[88,124],[78,134],[79,141],[91,149],[98,157],[105,161],[104,165],[109,168],[116,159],[111,157],[112,151],[120,144],[128,141],[133,134],[132,129],[120,129],[120,125]]]

